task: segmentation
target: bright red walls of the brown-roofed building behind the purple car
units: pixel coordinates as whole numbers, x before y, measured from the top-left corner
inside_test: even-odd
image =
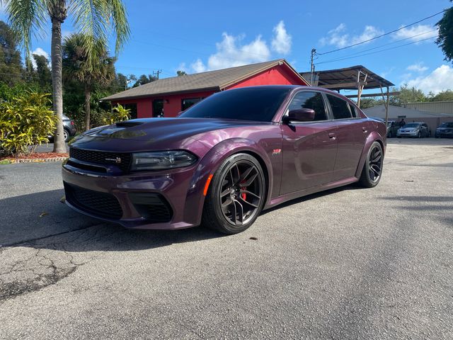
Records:
[[[237,89],[239,87],[246,86],[258,86],[258,85],[308,85],[305,84],[299,77],[297,77],[291,69],[285,64],[277,65],[271,69],[268,69],[260,74],[256,74],[248,79],[243,79],[236,84],[233,84],[226,88]],[[137,103],[137,118],[150,118],[152,114],[152,101],[154,99],[164,100],[164,116],[165,117],[176,117],[181,111],[181,101],[184,98],[199,98],[207,97],[214,94],[214,91],[203,91],[203,92],[190,92],[184,94],[171,94],[167,96],[150,96],[146,98],[127,99],[117,102],[120,104]]]

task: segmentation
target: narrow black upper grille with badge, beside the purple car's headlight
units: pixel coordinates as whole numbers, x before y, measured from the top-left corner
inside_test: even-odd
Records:
[[[103,152],[75,147],[69,148],[69,157],[88,163],[116,165],[124,173],[129,172],[132,162],[132,155],[126,152]]]

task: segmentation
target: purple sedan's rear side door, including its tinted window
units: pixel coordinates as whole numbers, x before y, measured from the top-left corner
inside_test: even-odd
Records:
[[[360,155],[369,135],[367,119],[360,118],[357,108],[343,98],[326,94],[337,127],[338,152],[332,181],[355,176]]]

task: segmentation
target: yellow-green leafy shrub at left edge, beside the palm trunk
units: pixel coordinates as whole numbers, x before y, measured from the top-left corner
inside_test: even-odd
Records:
[[[0,103],[0,148],[8,154],[34,152],[55,132],[58,118],[50,94],[22,91]]]

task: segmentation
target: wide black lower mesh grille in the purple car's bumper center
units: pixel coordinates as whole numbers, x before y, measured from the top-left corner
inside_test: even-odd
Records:
[[[64,193],[67,201],[76,208],[115,220],[122,217],[121,205],[110,193],[92,191],[66,182],[64,182]]]

